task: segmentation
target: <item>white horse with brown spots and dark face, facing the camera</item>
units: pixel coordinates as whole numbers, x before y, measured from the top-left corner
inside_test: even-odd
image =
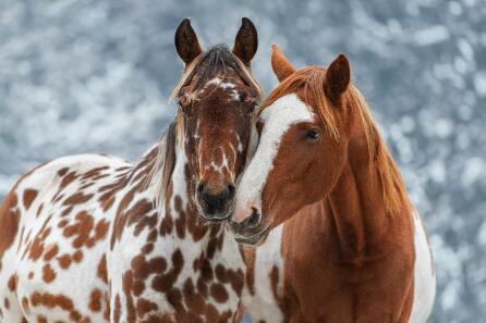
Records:
[[[85,154],[40,165],[0,210],[0,322],[238,322],[244,264],[223,221],[260,87],[243,18],[203,52],[189,20],[174,122],[135,164]],[[212,225],[207,225],[207,220]]]

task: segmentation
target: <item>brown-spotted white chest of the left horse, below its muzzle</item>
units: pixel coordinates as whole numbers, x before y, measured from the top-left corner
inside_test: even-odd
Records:
[[[113,319],[231,322],[243,288],[236,244],[222,226],[199,223],[178,196],[162,214],[142,232],[142,219],[125,225],[109,254]]]

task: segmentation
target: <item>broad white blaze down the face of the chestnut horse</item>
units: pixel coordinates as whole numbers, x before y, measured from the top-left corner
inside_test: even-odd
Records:
[[[262,192],[274,167],[274,159],[283,135],[296,123],[315,120],[311,109],[294,94],[281,97],[267,107],[262,112],[260,119],[265,126],[258,147],[236,190],[236,208],[233,215],[235,222],[248,216],[252,207],[262,209]]]

